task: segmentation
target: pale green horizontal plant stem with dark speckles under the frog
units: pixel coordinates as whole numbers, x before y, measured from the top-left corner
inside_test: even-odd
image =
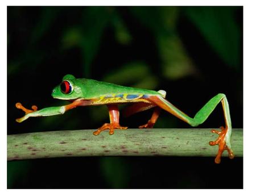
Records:
[[[93,130],[51,131],[7,136],[7,160],[78,156],[216,156],[208,128],[115,130],[94,136]],[[242,129],[232,130],[232,148],[243,156]],[[224,152],[222,156],[227,156]]]

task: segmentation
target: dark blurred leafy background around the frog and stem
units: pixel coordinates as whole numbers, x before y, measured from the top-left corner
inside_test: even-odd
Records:
[[[193,116],[225,93],[232,125],[243,127],[243,7],[7,7],[7,133],[96,129],[105,106],[31,118],[15,108],[64,105],[51,90],[65,74],[167,91]],[[152,111],[121,124],[137,128]],[[122,111],[121,111],[122,114]],[[224,125],[221,105],[199,127]],[[162,112],[156,128],[191,128]],[[239,188],[243,160],[214,157],[70,157],[10,161],[20,188]]]

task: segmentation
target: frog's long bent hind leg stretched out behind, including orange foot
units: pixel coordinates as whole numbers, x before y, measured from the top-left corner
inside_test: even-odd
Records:
[[[226,99],[226,96],[224,94],[217,94],[215,97],[210,99],[195,115],[194,118],[189,117],[188,115],[184,114],[184,112],[180,111],[177,107],[172,105],[170,102],[168,102],[166,99],[160,96],[150,96],[147,98],[148,101],[151,103],[154,103],[158,107],[163,108],[164,110],[170,112],[177,118],[183,120],[184,122],[187,122],[191,126],[195,127],[199,124],[203,123],[208,116],[212,113],[214,108],[218,105],[218,103],[222,103],[222,108],[224,111],[224,119],[226,127],[221,127],[221,131],[212,130],[213,133],[217,133],[218,139],[216,141],[210,141],[210,145],[217,145],[219,146],[218,154],[215,158],[216,163],[220,163],[220,158],[222,152],[226,149],[229,153],[229,158],[234,158],[234,154],[231,148],[230,144],[230,137],[232,133],[232,125],[230,120],[230,114],[229,114],[229,105],[228,100]]]

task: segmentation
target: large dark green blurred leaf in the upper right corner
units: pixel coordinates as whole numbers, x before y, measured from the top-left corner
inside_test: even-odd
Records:
[[[237,7],[186,7],[185,13],[221,59],[238,69],[242,34],[234,19],[236,10]]]

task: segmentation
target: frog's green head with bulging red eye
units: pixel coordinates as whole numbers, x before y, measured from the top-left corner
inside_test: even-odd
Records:
[[[81,87],[76,85],[76,78],[72,74],[63,77],[60,85],[52,90],[52,97],[63,100],[75,100],[82,98]]]

